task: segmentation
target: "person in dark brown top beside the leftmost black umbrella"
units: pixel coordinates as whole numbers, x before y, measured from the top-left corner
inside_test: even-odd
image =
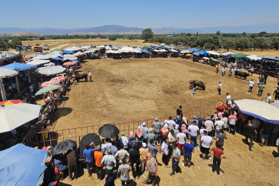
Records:
[[[66,154],[67,164],[69,169],[69,180],[73,180],[73,170],[74,170],[74,180],[78,176],[78,149],[74,147],[70,152]]]

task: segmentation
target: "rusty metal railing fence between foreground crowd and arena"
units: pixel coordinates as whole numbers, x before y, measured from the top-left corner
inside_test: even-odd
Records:
[[[194,111],[188,111],[183,112],[183,116],[186,116],[188,119],[192,119],[192,116],[198,116],[201,114],[202,118],[206,118],[208,114],[211,116],[214,114],[215,108],[208,108],[203,110],[194,110]],[[172,119],[174,119],[176,116],[172,116]],[[161,117],[159,118],[161,123],[164,123],[165,120],[169,120],[169,116],[167,117]],[[155,118],[150,119],[144,119],[144,123],[146,123],[146,127],[151,127],[152,123],[155,121]],[[131,131],[136,132],[137,126],[142,124],[142,121],[130,121],[130,122],[124,122],[124,123],[110,123],[118,127],[120,130],[120,134],[123,132],[126,136],[129,136],[129,133]],[[92,126],[86,126],[86,127],[75,127],[75,128],[69,128],[69,129],[63,129],[63,130],[52,130],[47,132],[34,132],[30,133],[27,138],[25,138],[25,142],[27,145],[31,147],[44,147],[47,145],[56,145],[57,143],[61,141],[65,141],[67,139],[71,139],[73,141],[76,141],[76,143],[80,143],[80,140],[83,136],[89,133],[96,133],[98,134],[98,130],[100,127],[106,124],[100,124],[100,125],[92,125]],[[46,138],[47,136],[47,138]]]

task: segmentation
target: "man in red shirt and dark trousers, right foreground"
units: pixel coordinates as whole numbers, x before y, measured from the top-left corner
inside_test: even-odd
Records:
[[[216,170],[218,176],[222,175],[220,173],[221,158],[227,158],[227,156],[225,156],[225,153],[223,152],[223,150],[221,150],[220,147],[221,147],[221,143],[217,141],[216,147],[210,149],[210,154],[213,156],[212,172],[215,172]]]

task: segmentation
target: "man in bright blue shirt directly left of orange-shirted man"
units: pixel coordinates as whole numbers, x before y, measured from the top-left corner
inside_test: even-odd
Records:
[[[94,149],[89,148],[91,145],[94,146]],[[85,149],[83,150],[83,157],[85,158],[85,161],[86,161],[87,172],[88,172],[89,177],[92,176],[92,172],[91,172],[90,168],[93,169],[93,172],[96,172],[96,165],[95,165],[95,163],[93,163],[95,149],[96,149],[96,146],[92,142],[92,143],[89,143],[88,145],[86,145]]]

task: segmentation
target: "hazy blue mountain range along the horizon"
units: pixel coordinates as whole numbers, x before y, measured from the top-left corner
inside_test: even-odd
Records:
[[[143,28],[129,28],[122,25],[103,25],[91,28],[0,28],[0,34],[9,34],[14,32],[27,32],[44,35],[61,35],[61,34],[142,34]],[[260,23],[257,25],[247,26],[215,26],[209,28],[152,28],[154,34],[172,34],[172,33],[215,33],[220,30],[221,33],[258,33],[258,32],[279,32],[279,25],[274,23]]]

